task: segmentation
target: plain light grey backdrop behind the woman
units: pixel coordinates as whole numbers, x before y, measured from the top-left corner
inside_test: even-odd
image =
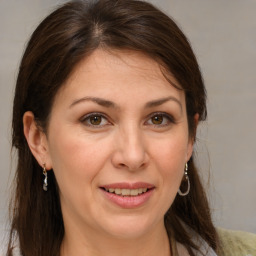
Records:
[[[31,32],[63,2],[0,0],[0,235],[15,167],[10,138],[18,65]],[[151,2],[183,29],[203,72],[209,116],[199,127],[196,154],[214,222],[256,233],[256,1]]]

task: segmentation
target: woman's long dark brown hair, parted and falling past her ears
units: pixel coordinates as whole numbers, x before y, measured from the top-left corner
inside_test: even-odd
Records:
[[[192,138],[194,115],[198,113],[200,121],[206,118],[206,91],[197,60],[185,35],[170,17],[138,0],[71,1],[56,9],[32,34],[17,77],[12,147],[17,149],[18,163],[10,208],[8,256],[13,255],[15,238],[23,256],[60,254],[65,231],[58,185],[54,172],[49,171],[49,188],[47,193],[43,191],[42,168],[30,152],[22,119],[26,111],[32,111],[38,126],[47,132],[58,90],[79,62],[96,49],[142,52],[160,64],[166,79],[168,74],[174,75],[185,93]],[[218,237],[193,157],[188,175],[190,193],[176,197],[165,215],[165,226],[168,235],[172,233],[193,256],[194,250],[200,248],[184,224],[215,251]]]

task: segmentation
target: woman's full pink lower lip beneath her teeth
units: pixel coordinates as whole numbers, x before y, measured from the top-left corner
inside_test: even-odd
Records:
[[[121,196],[114,193],[109,193],[102,189],[102,192],[106,196],[106,198],[112,203],[125,208],[137,208],[144,205],[152,196],[154,189],[150,189],[147,192],[140,194],[138,196]]]

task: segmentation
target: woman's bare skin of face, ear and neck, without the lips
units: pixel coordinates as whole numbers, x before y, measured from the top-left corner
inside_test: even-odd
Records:
[[[157,62],[138,52],[96,50],[57,93],[47,134],[33,113],[23,122],[32,153],[59,185],[62,256],[170,255],[164,214],[193,138],[184,92],[167,82]],[[147,182],[154,190],[143,205],[122,208],[100,189],[116,182]]]

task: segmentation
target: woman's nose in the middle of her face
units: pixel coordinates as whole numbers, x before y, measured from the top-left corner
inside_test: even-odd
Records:
[[[112,164],[118,169],[137,171],[149,162],[146,143],[139,128],[120,131],[115,138]]]

